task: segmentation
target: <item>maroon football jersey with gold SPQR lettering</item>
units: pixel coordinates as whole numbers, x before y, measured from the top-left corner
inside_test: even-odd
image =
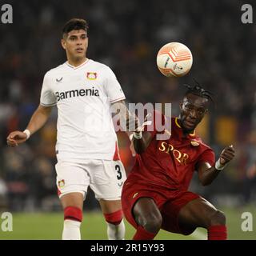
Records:
[[[154,111],[154,120],[166,119],[168,122],[168,118],[159,115]],[[214,166],[214,151],[210,146],[202,143],[196,134],[185,136],[178,118],[171,118],[170,122],[170,138],[167,140],[157,140],[159,132],[155,122],[147,126],[146,130],[153,136],[152,141],[145,152],[136,155],[135,165],[126,182],[168,190],[187,190],[199,162],[209,162],[210,166]]]

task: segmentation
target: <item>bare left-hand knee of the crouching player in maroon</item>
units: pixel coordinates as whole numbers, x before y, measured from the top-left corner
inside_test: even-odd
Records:
[[[145,230],[151,233],[157,233],[162,226],[162,216],[161,214],[146,214],[146,216],[141,218],[139,224],[143,226]]]

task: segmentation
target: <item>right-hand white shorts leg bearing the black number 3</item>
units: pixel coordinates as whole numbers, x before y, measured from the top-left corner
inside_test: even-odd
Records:
[[[94,160],[87,166],[87,170],[91,178],[90,188],[96,199],[121,200],[122,186],[126,181],[126,171],[121,161]]]

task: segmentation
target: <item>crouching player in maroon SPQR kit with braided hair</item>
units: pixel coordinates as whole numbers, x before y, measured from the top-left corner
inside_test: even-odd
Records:
[[[210,94],[201,86],[188,88],[179,117],[171,118],[168,140],[156,139],[155,122],[153,129],[134,133],[136,162],[122,188],[122,210],[137,230],[134,240],[154,239],[160,229],[191,234],[197,227],[208,230],[209,240],[227,238],[225,215],[188,187],[194,170],[203,186],[213,182],[234,158],[234,148],[227,146],[215,162],[214,151],[194,133],[208,111]],[[151,121],[159,114],[154,111]]]

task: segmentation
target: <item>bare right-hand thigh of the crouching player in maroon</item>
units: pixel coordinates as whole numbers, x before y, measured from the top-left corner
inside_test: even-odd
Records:
[[[178,213],[180,226],[209,227],[218,210],[206,199],[196,198],[188,202]]]

